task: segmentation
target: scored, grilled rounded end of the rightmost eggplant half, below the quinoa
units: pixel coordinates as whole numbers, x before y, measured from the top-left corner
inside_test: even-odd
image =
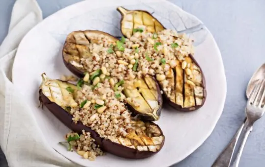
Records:
[[[188,64],[183,68],[183,61]],[[205,78],[201,68],[191,54],[185,60],[177,60],[175,69],[166,72],[165,80],[169,86],[163,87],[160,81],[165,100],[180,111],[194,111],[203,106],[206,99]],[[168,91],[167,89],[170,89]]]

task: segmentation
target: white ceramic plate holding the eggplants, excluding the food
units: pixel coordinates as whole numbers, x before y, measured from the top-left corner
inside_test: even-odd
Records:
[[[98,29],[120,36],[120,14],[116,7],[144,9],[167,28],[186,32],[195,40],[195,58],[204,71],[207,100],[194,112],[180,113],[165,107],[157,122],[165,135],[165,144],[155,156],[129,160],[111,154],[90,162],[58,144],[70,130],[47,109],[37,108],[41,73],[51,78],[70,74],[62,62],[62,45],[74,30]],[[47,141],[57,152],[85,167],[168,167],[197,149],[212,133],[226,96],[226,79],[220,51],[209,30],[196,17],[164,0],[90,0],[64,8],[35,26],[22,40],[13,66],[13,82],[25,95],[32,114]]]

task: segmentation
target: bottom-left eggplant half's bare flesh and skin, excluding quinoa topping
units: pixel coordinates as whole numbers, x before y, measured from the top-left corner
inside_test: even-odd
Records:
[[[75,123],[69,112],[69,107],[78,107],[75,101],[78,88],[71,83],[53,80],[42,74],[42,83],[39,90],[40,102],[45,105],[53,115],[76,133],[82,130],[91,133],[95,143],[111,154],[132,159],[150,157],[160,151],[164,144],[164,136],[159,126],[151,121],[143,122],[131,118],[132,128],[126,137],[101,138],[90,127],[80,121]],[[71,92],[67,90],[71,88]]]

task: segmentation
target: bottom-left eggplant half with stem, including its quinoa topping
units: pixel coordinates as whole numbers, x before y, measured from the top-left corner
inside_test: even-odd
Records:
[[[42,79],[41,103],[74,132],[89,132],[104,151],[142,159],[162,148],[164,136],[159,126],[134,120],[125,105],[114,97],[107,79],[97,87],[49,79],[45,73]]]

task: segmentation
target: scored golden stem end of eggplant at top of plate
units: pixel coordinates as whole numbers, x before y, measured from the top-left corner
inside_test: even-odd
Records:
[[[151,13],[144,10],[127,10],[123,7],[118,7],[117,10],[122,15],[121,32],[127,38],[130,38],[134,33],[141,31],[141,26],[144,25],[148,32],[159,32],[166,29]]]

